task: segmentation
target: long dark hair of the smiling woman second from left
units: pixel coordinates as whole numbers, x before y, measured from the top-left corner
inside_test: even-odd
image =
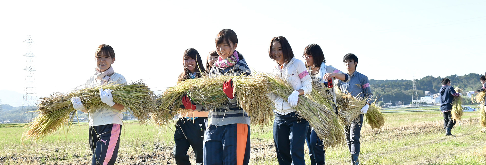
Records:
[[[189,76],[189,69],[187,69],[184,66],[184,58],[185,57],[191,57],[196,61],[196,71],[195,71],[195,76],[197,78],[201,78],[203,75],[206,75],[206,69],[203,66],[203,61],[201,60],[201,56],[199,55],[199,52],[197,52],[196,49],[194,48],[189,48],[184,51],[184,55],[182,56],[182,66],[184,67],[184,72],[179,76],[179,82],[184,81],[184,79],[190,79],[191,77]]]

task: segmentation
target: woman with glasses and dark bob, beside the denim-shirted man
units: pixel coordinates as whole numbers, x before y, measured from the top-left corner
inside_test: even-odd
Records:
[[[342,82],[348,82],[349,75],[335,67],[326,66],[324,52],[322,52],[321,47],[317,44],[311,44],[305,47],[302,57],[305,59],[305,65],[311,72],[312,85],[329,88],[324,92],[330,93],[332,95],[332,101],[336,102],[336,93],[334,92],[332,82],[336,79]],[[337,106],[333,104],[333,107],[337,114]],[[306,141],[309,147],[311,165],[326,165],[326,150],[324,149],[322,140],[317,137],[312,127],[307,131]]]

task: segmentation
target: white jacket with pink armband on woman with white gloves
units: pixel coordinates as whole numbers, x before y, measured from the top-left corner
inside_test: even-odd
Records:
[[[282,79],[289,82],[294,90],[304,90],[304,95],[311,93],[312,91],[312,79],[304,65],[304,62],[292,58],[287,64],[283,65],[283,69],[280,66],[275,66],[275,78]],[[278,92],[278,91],[276,91]],[[295,112],[294,107],[290,106],[287,99],[278,97],[277,94],[269,94],[268,97],[275,103],[274,112],[280,115],[287,115]]]

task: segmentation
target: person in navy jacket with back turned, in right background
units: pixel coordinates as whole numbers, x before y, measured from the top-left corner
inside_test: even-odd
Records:
[[[451,86],[451,80],[448,78],[442,79],[442,87],[439,90],[440,93],[440,112],[444,115],[444,129],[446,130],[446,135],[452,135],[451,130],[454,127],[456,121],[452,119],[452,100],[454,97],[460,97],[461,93],[456,93],[454,88]]]

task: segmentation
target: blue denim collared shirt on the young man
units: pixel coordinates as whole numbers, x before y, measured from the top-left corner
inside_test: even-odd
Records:
[[[356,98],[365,98],[366,102],[369,103],[373,97],[373,93],[371,93],[368,77],[358,71],[354,71],[349,77],[349,82],[337,82],[339,90],[343,93],[349,93]]]

